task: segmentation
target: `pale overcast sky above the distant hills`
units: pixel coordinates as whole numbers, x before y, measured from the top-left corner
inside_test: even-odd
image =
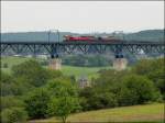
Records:
[[[1,1],[1,32],[164,29],[164,1]]]

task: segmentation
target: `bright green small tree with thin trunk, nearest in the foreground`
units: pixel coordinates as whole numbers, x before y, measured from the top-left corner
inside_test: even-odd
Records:
[[[48,103],[48,114],[62,118],[66,122],[67,116],[80,109],[78,90],[70,78],[58,78],[51,80],[47,86],[51,93]]]

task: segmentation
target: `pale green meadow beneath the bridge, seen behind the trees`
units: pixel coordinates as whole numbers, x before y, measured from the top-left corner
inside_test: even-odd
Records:
[[[11,71],[11,67],[18,64],[21,64],[30,58],[25,57],[2,57],[1,64],[3,66],[4,63],[8,64],[8,68],[1,68],[2,71],[9,72]],[[86,76],[89,79],[92,77],[98,77],[97,71],[100,69],[108,69],[110,67],[75,67],[75,66],[63,66],[62,72],[67,76],[75,76],[76,78],[79,78],[80,76]]]

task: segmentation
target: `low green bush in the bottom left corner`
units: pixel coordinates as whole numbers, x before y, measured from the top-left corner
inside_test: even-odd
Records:
[[[10,108],[1,112],[2,123],[25,123],[28,113],[22,108]]]

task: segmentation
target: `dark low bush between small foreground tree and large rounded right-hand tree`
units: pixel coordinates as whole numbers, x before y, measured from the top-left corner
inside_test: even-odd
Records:
[[[96,88],[82,89],[79,97],[80,105],[84,111],[114,108],[118,105],[118,100],[114,93],[103,90],[98,91]]]

